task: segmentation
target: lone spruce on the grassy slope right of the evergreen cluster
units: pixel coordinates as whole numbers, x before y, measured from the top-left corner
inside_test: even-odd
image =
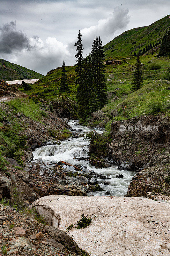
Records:
[[[136,69],[134,72],[134,78],[132,79],[132,92],[137,91],[142,87],[143,84],[143,77],[142,77],[142,71],[141,71],[141,63],[140,63],[140,56],[137,54],[137,61],[136,61]]]

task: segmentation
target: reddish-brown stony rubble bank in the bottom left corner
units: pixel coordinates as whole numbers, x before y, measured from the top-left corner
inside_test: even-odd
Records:
[[[31,211],[20,214],[10,206],[0,204],[0,255],[82,254],[70,236],[62,230],[41,224],[32,215]]]

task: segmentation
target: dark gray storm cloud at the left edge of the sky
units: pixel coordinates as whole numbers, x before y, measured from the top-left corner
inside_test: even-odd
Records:
[[[22,32],[17,31],[16,21],[4,24],[0,27],[0,52],[11,53],[13,51],[20,51],[22,49],[30,50],[29,38]]]

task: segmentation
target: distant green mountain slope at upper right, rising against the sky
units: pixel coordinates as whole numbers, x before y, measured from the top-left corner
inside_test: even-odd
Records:
[[[148,44],[155,44],[162,38],[166,28],[170,26],[169,15],[155,21],[152,25],[133,28],[115,37],[104,46],[106,59],[115,56],[127,56],[146,48]],[[136,41],[136,43],[135,43]],[[132,44],[133,43],[133,44]]]

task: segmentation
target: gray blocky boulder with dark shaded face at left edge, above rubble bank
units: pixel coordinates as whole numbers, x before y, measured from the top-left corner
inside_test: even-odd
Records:
[[[0,199],[6,197],[11,200],[12,182],[5,176],[0,175]]]

